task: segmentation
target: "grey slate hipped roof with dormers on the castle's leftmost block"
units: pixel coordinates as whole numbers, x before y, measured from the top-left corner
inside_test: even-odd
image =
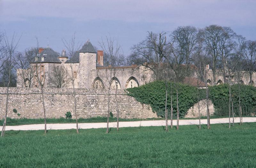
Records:
[[[58,59],[60,55],[55,52],[52,48],[47,47],[44,48],[44,50],[40,53],[37,54],[35,57],[37,57],[37,61],[34,60],[35,62],[50,62],[50,63],[61,63],[61,61]],[[44,57],[44,60],[42,61],[42,57]]]

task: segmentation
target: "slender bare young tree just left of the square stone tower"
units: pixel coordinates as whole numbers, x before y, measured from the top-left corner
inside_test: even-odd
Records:
[[[62,39],[64,46],[68,51],[69,62],[67,63],[67,67],[63,66],[65,69],[68,80],[71,81],[73,86],[73,96],[74,96],[74,107],[75,107],[75,116],[76,116],[76,133],[79,133],[78,122],[77,122],[77,114],[76,114],[76,90],[75,90],[75,80],[77,75],[81,70],[79,53],[77,52],[81,45],[76,44],[76,32],[73,34],[72,39],[70,41],[66,41]],[[76,58],[78,56],[78,58]],[[78,63],[77,63],[78,61]],[[76,63],[76,65],[74,65]]]

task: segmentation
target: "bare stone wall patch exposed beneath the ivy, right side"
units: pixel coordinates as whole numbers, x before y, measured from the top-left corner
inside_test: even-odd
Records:
[[[199,110],[200,110],[200,114],[201,116],[207,116],[206,112],[207,112],[207,108],[206,108],[206,100],[201,100],[199,101]],[[214,107],[212,104],[212,101],[209,100],[209,111],[210,111],[210,115],[213,115],[214,113]],[[199,114],[198,114],[198,103],[194,104],[193,107],[189,108],[187,114],[185,115],[185,118],[198,118]]]

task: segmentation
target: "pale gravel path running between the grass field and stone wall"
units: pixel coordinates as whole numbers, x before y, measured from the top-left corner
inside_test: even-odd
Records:
[[[231,122],[232,122],[232,118]],[[239,122],[239,117],[235,118],[235,122]],[[180,120],[180,125],[198,125],[199,121],[196,120]],[[228,123],[228,118],[216,118],[211,119],[211,124],[217,123]],[[244,117],[243,122],[256,122],[256,117]],[[207,120],[201,120],[202,124],[207,124]],[[168,125],[170,120],[168,120]],[[173,120],[173,125],[176,125],[176,120]],[[130,121],[130,122],[119,122],[119,127],[147,127],[147,126],[165,126],[165,120],[155,121]],[[90,128],[106,128],[107,123],[78,123],[79,129],[90,129]],[[110,128],[116,128],[116,122],[109,122]],[[44,129],[44,124],[31,124],[31,125],[19,125],[19,126],[6,126],[5,130],[40,130]],[[76,129],[76,123],[63,123],[63,124],[47,124],[47,129]]]

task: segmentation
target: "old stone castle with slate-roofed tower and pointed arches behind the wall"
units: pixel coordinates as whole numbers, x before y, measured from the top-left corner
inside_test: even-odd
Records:
[[[38,66],[39,74],[44,75],[46,80],[44,86],[48,87],[51,85],[48,80],[51,75],[52,67],[61,67],[63,66],[66,69],[68,74],[73,74],[74,76],[74,87],[75,88],[86,88],[86,89],[107,89],[108,87],[126,89],[138,87],[144,85],[148,82],[154,81],[154,74],[150,71],[149,68],[143,65],[131,65],[126,67],[113,67],[116,69],[116,75],[111,76],[109,79],[109,67],[104,67],[103,65],[103,51],[95,51],[95,48],[92,46],[91,42],[87,40],[84,46],[75,53],[72,59],[68,59],[66,51],[63,49],[61,55],[53,51],[52,48],[39,48],[38,54],[35,56],[35,60],[30,63],[30,68],[33,65]],[[71,72],[71,67],[72,71]],[[18,69],[17,70],[17,87],[27,87],[26,80],[21,79],[21,72],[29,71],[29,69]],[[207,76],[207,84],[213,86],[213,74],[212,70],[209,68],[209,65],[205,67],[205,72]],[[27,73],[29,74],[29,73]],[[187,77],[184,82],[193,86],[197,84],[196,73],[192,77]],[[246,73],[242,73],[241,83],[249,85],[250,80],[247,77]],[[227,80],[228,77],[226,77]],[[252,74],[252,79],[256,79],[256,73]],[[232,79],[233,83],[237,82],[235,79]],[[31,81],[34,87],[39,86],[36,80]],[[72,82],[68,79],[63,79],[63,83],[66,82],[65,87],[72,88]],[[224,77],[220,69],[216,70],[216,80],[215,84],[219,85],[224,83]],[[110,85],[110,86],[109,86]],[[204,87],[204,82],[200,82],[200,87]],[[252,81],[252,85],[254,82]],[[32,87],[33,87],[32,86]]]

